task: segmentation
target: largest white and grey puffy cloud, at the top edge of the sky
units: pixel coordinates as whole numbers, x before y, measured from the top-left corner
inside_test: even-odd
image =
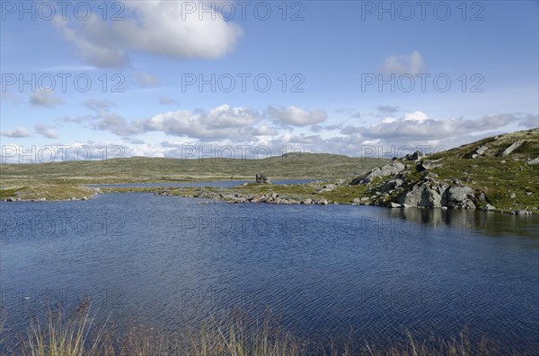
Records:
[[[216,58],[232,51],[243,30],[219,16],[184,13],[184,1],[128,1],[123,21],[103,22],[99,13],[87,21],[55,25],[87,63],[98,67],[124,67],[133,51],[174,59]],[[192,3],[194,4],[194,3]],[[201,3],[196,4],[201,6]]]

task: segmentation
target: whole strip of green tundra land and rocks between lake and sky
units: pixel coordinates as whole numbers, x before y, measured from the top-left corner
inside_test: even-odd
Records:
[[[316,179],[297,185],[279,179]],[[255,183],[255,175],[258,181]],[[267,175],[267,177],[266,177]],[[249,180],[238,187],[167,187],[167,183]],[[84,187],[162,183],[163,187]],[[395,158],[288,153],[264,160],[128,158],[36,165],[3,164],[0,198],[85,199],[98,192],[145,192],[232,203],[364,204],[393,208],[482,209],[529,214],[539,209],[539,129],[492,136],[446,152]]]

